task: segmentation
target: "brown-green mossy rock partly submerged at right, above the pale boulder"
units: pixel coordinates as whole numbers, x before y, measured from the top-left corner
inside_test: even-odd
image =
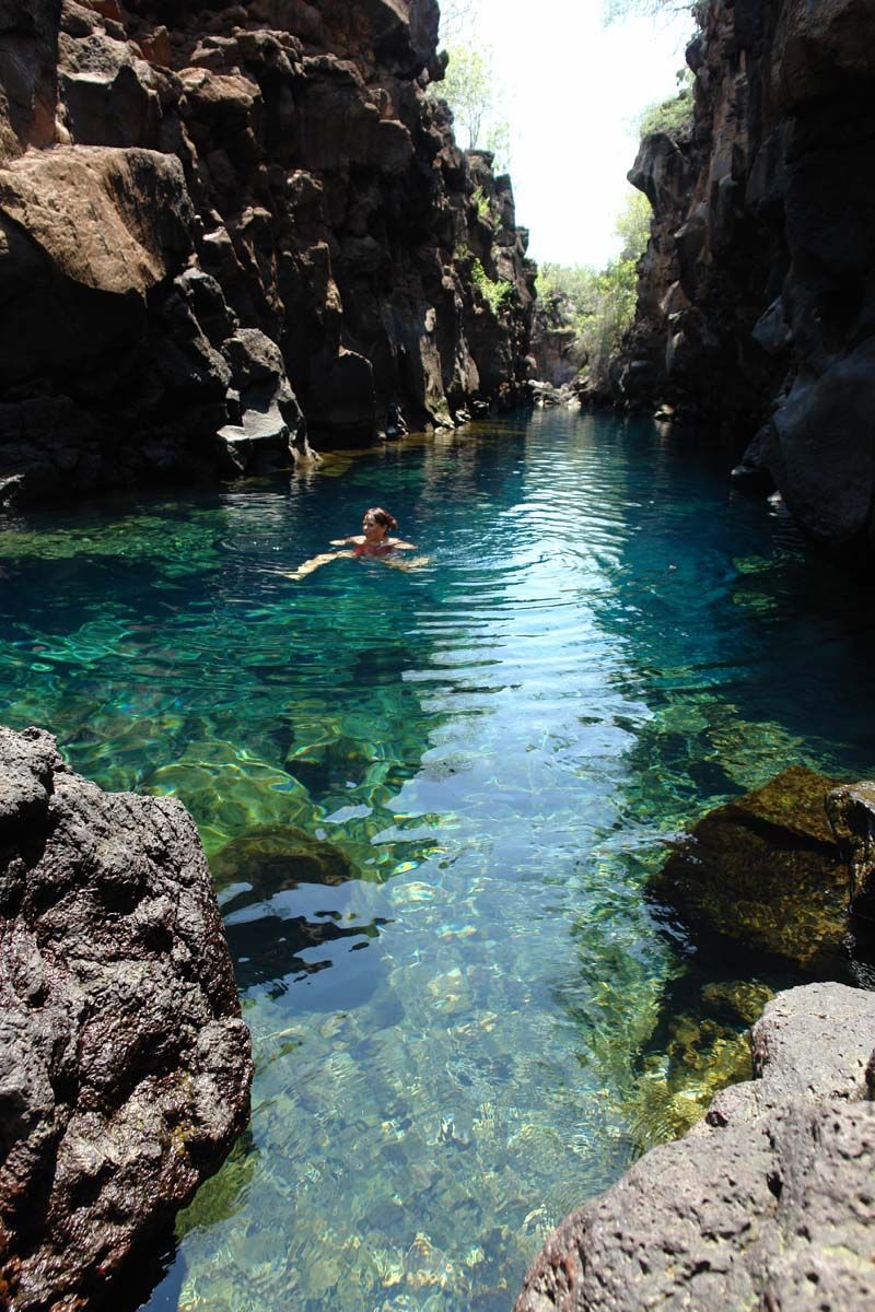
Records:
[[[649,892],[694,932],[823,971],[847,932],[847,870],[824,808],[837,783],[791,766],[718,807],[677,845]]]

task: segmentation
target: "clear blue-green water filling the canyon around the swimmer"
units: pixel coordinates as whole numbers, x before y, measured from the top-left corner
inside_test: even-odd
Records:
[[[719,1078],[703,981],[786,981],[701,963],[641,884],[786,765],[871,773],[875,621],[681,447],[544,413],[0,521],[0,718],[188,804],[254,1039],[251,1131],[151,1312],[506,1312]],[[371,504],[426,564],[283,577]],[[218,857],[289,825],[352,878]]]

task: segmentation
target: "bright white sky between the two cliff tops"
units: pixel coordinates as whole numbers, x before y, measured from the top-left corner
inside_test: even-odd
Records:
[[[693,20],[605,26],[602,0],[478,0],[478,43],[491,46],[512,129],[517,222],[539,262],[602,268],[638,150],[635,119],[677,92]]]

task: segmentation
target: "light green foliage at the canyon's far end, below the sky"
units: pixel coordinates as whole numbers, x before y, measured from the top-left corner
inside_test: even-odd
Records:
[[[647,198],[630,194],[617,220],[623,249],[605,269],[544,264],[538,270],[538,298],[552,302],[552,316],[573,328],[572,354],[584,366],[581,377],[596,387],[606,383],[611,356],[635,314],[638,261],[649,237],[649,215]]]

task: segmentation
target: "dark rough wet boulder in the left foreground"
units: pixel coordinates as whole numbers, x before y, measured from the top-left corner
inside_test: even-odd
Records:
[[[0,1304],[97,1308],[218,1169],[252,1056],[197,830],[0,728]]]

